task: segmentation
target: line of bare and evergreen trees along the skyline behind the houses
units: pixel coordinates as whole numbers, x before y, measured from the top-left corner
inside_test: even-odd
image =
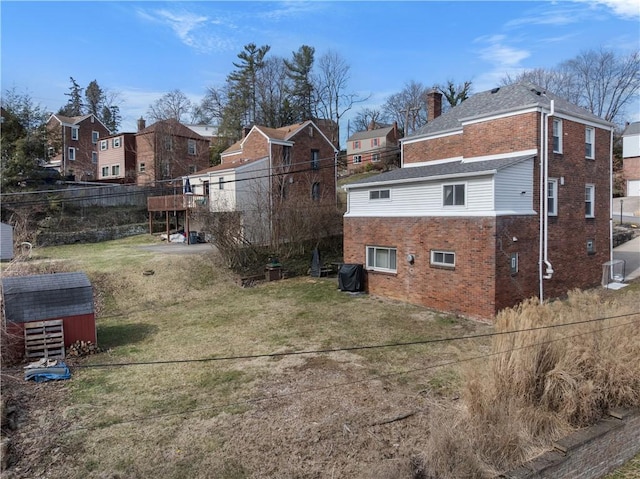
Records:
[[[339,53],[329,50],[316,57],[316,50],[302,45],[289,58],[271,55],[269,45],[249,43],[238,53],[225,82],[207,88],[200,102],[192,102],[179,89],[164,94],[149,105],[151,121],[175,118],[183,123],[215,124],[228,140],[241,138],[244,127],[259,124],[278,128],[313,119],[326,120],[325,131],[339,143],[344,116],[370,98],[350,90],[350,66]],[[121,124],[120,94],[103,88],[97,80],[86,87],[70,77],[67,102],[58,114],[94,114],[112,133]],[[590,49],[551,68],[534,68],[505,75],[501,84],[529,81],[591,113],[622,124],[626,109],[640,89],[640,53],[622,55],[606,48]],[[348,134],[374,127],[398,124],[410,135],[427,122],[427,93],[435,88],[447,109],[472,94],[470,80],[441,84],[409,81],[380,107],[362,107],[350,120]],[[1,130],[2,184],[20,173],[33,170],[46,159],[45,123],[50,116],[28,93],[14,88],[2,93]],[[344,125],[342,125],[344,127]],[[10,183],[10,181],[9,181]]]

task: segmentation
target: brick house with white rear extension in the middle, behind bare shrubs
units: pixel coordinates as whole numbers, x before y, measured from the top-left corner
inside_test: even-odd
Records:
[[[220,165],[188,178],[210,211],[239,213],[244,240],[267,244],[282,239],[288,210],[335,207],[337,154],[313,121],[254,126],[222,153]]]

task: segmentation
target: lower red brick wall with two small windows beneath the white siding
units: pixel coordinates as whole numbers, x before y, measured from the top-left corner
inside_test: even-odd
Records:
[[[494,236],[494,218],[345,218],[344,260],[364,264],[366,246],[395,247],[397,274],[367,271],[369,293],[488,318],[496,308]],[[455,252],[455,269],[432,267],[432,249]]]

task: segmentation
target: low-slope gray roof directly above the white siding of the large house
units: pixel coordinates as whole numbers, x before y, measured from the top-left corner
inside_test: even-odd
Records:
[[[482,171],[501,170],[508,168],[522,161],[530,160],[535,155],[522,155],[510,158],[501,158],[497,160],[482,161],[450,161],[447,163],[438,163],[435,165],[424,165],[415,167],[398,168],[376,176],[370,176],[354,183],[345,185],[351,187],[365,187],[369,183],[396,183],[408,180],[422,180],[429,177],[446,177],[461,174],[480,173]]]

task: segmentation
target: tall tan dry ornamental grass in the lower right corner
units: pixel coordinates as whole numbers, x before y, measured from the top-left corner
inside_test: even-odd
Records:
[[[466,371],[461,404],[432,414],[427,477],[495,477],[610,408],[640,406],[639,309],[637,291],[576,290],[501,312],[506,334]]]

